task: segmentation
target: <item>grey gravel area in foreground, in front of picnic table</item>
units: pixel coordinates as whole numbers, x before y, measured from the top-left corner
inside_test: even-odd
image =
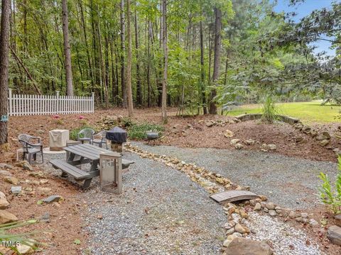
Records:
[[[227,218],[222,206],[185,174],[126,152],[124,193],[93,187],[83,217],[93,254],[219,254]]]

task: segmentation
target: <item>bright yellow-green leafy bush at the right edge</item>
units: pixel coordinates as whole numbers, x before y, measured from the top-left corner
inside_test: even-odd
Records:
[[[332,212],[335,214],[341,212],[341,156],[339,156],[338,161],[339,169],[335,181],[335,190],[332,188],[327,174],[321,172],[318,176],[323,181],[322,186],[319,188],[320,198],[323,203],[330,205]]]

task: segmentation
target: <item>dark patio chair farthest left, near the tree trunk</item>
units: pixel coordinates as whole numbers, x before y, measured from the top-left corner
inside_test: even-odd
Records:
[[[31,164],[32,156],[34,160],[37,160],[37,153],[41,153],[41,159],[44,163],[43,145],[41,144],[40,137],[33,137],[31,135],[21,134],[18,135],[18,140],[23,146],[23,160],[27,155],[28,163]]]

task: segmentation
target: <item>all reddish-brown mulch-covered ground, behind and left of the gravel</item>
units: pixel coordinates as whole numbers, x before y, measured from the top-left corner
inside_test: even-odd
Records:
[[[197,117],[180,118],[175,116],[175,109],[169,111],[168,124],[165,125],[166,135],[163,140],[163,145],[175,145],[178,147],[214,147],[224,149],[234,149],[229,144],[233,138],[244,140],[255,140],[256,145],[244,145],[247,150],[260,150],[263,143],[274,144],[277,149],[271,153],[284,154],[287,156],[301,157],[305,159],[315,159],[319,161],[336,162],[337,157],[332,149],[340,147],[341,140],[335,136],[332,137],[328,147],[320,147],[318,142],[303,135],[291,125],[285,123],[276,123],[274,125],[260,123],[259,121],[248,121],[244,123],[234,123],[222,126],[214,125],[207,127],[206,120],[229,120],[232,117],[222,115],[205,115]],[[134,111],[136,122],[152,122],[161,123],[161,111],[158,108]],[[111,109],[107,111],[96,111],[93,114],[73,114],[60,115],[60,118],[55,119],[51,115],[39,116],[17,116],[11,117],[9,121],[9,152],[2,152],[0,163],[14,164],[16,149],[20,147],[17,136],[21,133],[27,133],[43,138],[44,147],[48,147],[48,131],[54,129],[68,129],[81,127],[84,124],[95,125],[98,120],[102,120],[104,116],[123,115],[126,116],[125,109]],[[80,116],[84,117],[81,119]],[[200,121],[201,120],[201,121]],[[340,135],[338,123],[328,125],[315,125],[318,130],[328,130],[330,134]],[[234,132],[232,138],[224,137],[225,130]],[[296,137],[303,137],[301,143],[296,143]],[[38,166],[34,166],[35,171],[43,171]],[[30,171],[24,171],[21,168],[14,167],[10,169],[13,176],[16,176],[21,183],[22,188],[33,188],[36,193],[25,192],[23,196],[11,195],[11,184],[0,181],[0,190],[6,194],[9,203],[11,203],[9,212],[16,215],[19,220],[28,220],[31,218],[39,218],[46,212],[50,215],[50,222],[39,223],[26,227],[28,231],[38,230],[44,232],[43,239],[40,242],[47,243],[48,246],[43,248],[45,254],[80,254],[85,249],[87,240],[86,235],[82,232],[83,223],[80,219],[79,212],[87,206],[84,201],[77,198],[77,194],[82,192],[77,186],[74,186],[68,181],[63,181],[59,177],[45,174],[43,177],[30,176]],[[4,176],[0,176],[3,179]],[[65,199],[60,203],[38,205],[37,201],[46,197],[37,191],[38,187],[33,186],[25,180],[47,179],[48,183],[40,185],[41,187],[51,188],[51,195],[58,194]],[[320,212],[323,214],[324,212]],[[49,232],[50,231],[50,232]],[[45,232],[49,232],[45,234]],[[67,233],[60,235],[60,233]],[[323,236],[325,238],[325,235]],[[73,244],[75,239],[80,239],[80,245]],[[327,245],[327,241],[320,240],[321,244]]]

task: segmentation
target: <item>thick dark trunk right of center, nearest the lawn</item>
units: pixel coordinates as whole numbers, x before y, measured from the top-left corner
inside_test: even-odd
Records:
[[[220,47],[222,40],[222,12],[219,8],[215,8],[215,61],[213,62],[213,86],[216,86],[217,79],[219,78],[220,67]],[[215,88],[211,91],[210,97],[210,113],[217,114],[217,105],[215,103],[215,96],[217,96],[217,90]]]

